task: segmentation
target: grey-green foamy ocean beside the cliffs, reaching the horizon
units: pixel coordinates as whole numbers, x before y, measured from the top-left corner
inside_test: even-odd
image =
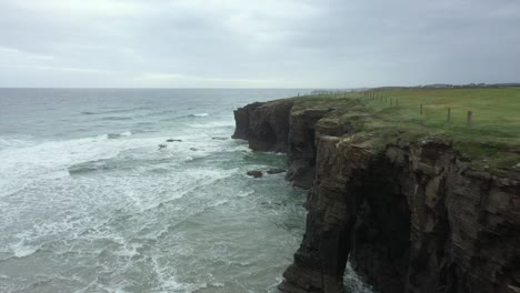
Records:
[[[298,92],[0,89],[0,292],[278,292],[306,192],[230,137]]]

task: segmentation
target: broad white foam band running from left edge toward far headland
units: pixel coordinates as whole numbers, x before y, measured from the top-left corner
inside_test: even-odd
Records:
[[[169,160],[169,162],[186,162],[197,158],[208,158],[208,155],[222,151],[236,150],[234,143],[211,140],[211,137],[202,132],[174,137],[184,142],[169,145],[164,152],[160,152],[157,159]],[[19,148],[17,148],[18,145],[11,148],[1,148],[0,145],[0,160],[2,161],[0,173],[10,175],[9,180],[0,180],[0,198],[31,186],[34,181],[39,180],[124,168],[129,165],[128,162],[121,162],[121,160],[117,159],[116,161],[112,159],[116,159],[121,152],[130,150],[141,150],[138,155],[146,158],[144,160],[148,162],[150,158],[154,158],[157,145],[164,143],[168,138],[171,137],[166,133],[136,138],[133,132],[126,131],[64,141],[29,141],[27,144],[20,143]],[[0,137],[0,142],[1,139],[3,138]]]

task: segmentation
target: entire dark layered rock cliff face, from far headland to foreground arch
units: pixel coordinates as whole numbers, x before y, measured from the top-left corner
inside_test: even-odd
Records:
[[[239,110],[247,119],[237,119],[246,135],[236,132],[253,149],[288,152],[288,179],[312,186],[306,233],[281,291],[341,292],[350,257],[379,292],[516,292],[517,175],[469,168],[449,140],[376,148],[378,138],[358,140],[348,123],[323,128],[331,110],[291,111],[293,104],[248,105]],[[269,132],[279,135],[259,134]]]

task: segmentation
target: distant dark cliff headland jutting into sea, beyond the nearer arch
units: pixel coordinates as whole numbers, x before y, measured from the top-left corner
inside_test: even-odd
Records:
[[[310,189],[316,164],[314,127],[331,110],[292,112],[293,105],[293,100],[280,100],[239,108],[234,111],[237,128],[232,138],[247,140],[252,150],[288,153],[287,180]]]

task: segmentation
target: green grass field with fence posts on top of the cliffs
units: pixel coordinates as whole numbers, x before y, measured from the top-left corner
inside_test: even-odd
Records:
[[[352,107],[344,100],[357,101],[357,105],[340,112],[341,118],[363,117],[358,129],[376,133],[383,141],[446,137],[476,164],[520,166],[520,88],[380,89],[308,98],[306,104],[314,102],[319,107]],[[467,123],[468,111],[472,112],[471,125]]]

